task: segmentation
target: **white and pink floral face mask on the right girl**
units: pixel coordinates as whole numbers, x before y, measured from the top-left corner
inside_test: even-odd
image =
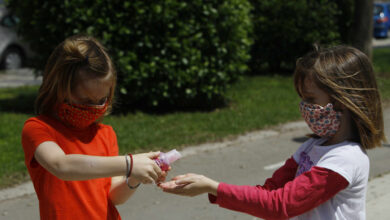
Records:
[[[332,103],[322,107],[302,101],[300,110],[311,130],[320,137],[332,137],[340,128],[342,113],[335,111]]]

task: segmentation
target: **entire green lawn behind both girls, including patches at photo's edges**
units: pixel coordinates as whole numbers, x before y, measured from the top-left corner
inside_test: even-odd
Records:
[[[390,100],[390,48],[374,50],[382,98]],[[0,188],[28,179],[20,144],[23,122],[32,116],[38,87],[0,89]],[[221,141],[300,119],[292,77],[244,77],[227,92],[229,105],[211,112],[112,115],[104,123],[117,133],[120,152],[168,150]]]

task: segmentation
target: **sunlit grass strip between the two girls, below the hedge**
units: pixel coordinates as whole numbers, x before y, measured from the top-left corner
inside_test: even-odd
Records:
[[[271,92],[272,91],[272,92]],[[230,105],[212,112],[111,116],[122,152],[168,149],[218,141],[291,119],[298,119],[298,97],[291,77],[252,77],[235,84]]]

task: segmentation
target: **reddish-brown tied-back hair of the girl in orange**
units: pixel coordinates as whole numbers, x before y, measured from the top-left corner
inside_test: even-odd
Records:
[[[50,55],[35,101],[36,113],[52,115],[54,108],[70,97],[80,80],[81,71],[87,77],[111,79],[112,87],[108,97],[108,109],[111,110],[116,86],[113,63],[95,38],[75,35],[65,39]]]

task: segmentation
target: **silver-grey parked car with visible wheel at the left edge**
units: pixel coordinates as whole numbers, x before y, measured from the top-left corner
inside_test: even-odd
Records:
[[[0,69],[18,69],[32,55],[28,45],[16,33],[18,18],[0,5]]]

